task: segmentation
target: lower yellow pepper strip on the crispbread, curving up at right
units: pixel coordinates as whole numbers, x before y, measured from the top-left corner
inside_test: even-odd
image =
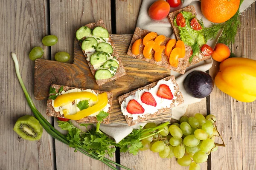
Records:
[[[81,110],[73,115],[69,115],[68,112],[63,112],[64,117],[71,120],[79,120],[95,112],[101,111],[108,104],[108,94],[106,92],[101,93],[98,95],[98,98],[99,98],[99,102],[97,102],[96,105],[93,105],[92,107]]]

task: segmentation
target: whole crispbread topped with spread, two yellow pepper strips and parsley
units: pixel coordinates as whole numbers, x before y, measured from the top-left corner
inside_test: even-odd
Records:
[[[70,94],[73,96],[68,96]],[[78,123],[96,123],[98,122],[96,115],[104,111],[109,114],[102,120],[102,123],[108,124],[112,99],[113,94],[111,92],[52,84],[47,100],[46,114],[47,116],[74,119]],[[79,119],[77,116],[81,111],[83,113]],[[88,116],[83,117],[83,115]]]

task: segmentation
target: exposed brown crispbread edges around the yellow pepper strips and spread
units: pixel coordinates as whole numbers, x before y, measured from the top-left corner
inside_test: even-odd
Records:
[[[74,89],[75,87],[68,87],[68,86],[65,86],[65,85],[55,85],[55,84],[52,84],[51,87],[52,88],[55,88],[56,89],[56,93],[58,93],[59,91],[59,88],[61,88],[61,86],[63,87],[63,90],[64,91],[68,91],[68,90],[71,90],[71,89]],[[79,88],[81,90],[87,90],[86,88]],[[106,92],[106,91],[97,91],[97,90],[92,90],[94,91],[96,94],[101,94],[103,92]],[[109,109],[108,109],[108,117],[106,117],[105,119],[103,119],[102,123],[104,124],[108,124],[109,123],[109,120],[110,120],[110,112],[111,112],[111,105],[112,105],[112,99],[113,99],[113,93],[111,92],[106,92],[108,94],[108,104],[110,105]],[[51,96],[52,94],[49,94],[49,96]],[[60,112],[56,112],[52,106],[52,99],[48,99],[47,100],[47,110],[46,110],[46,115],[47,116],[54,116],[54,117],[62,117],[64,118],[64,116],[60,114]],[[76,122],[78,123],[96,123],[97,122],[97,118],[95,116],[87,116],[83,119],[80,119],[80,120],[76,120]]]

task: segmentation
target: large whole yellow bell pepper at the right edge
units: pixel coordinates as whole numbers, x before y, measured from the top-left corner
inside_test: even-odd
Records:
[[[256,100],[256,60],[229,58],[221,62],[215,85],[241,102]]]

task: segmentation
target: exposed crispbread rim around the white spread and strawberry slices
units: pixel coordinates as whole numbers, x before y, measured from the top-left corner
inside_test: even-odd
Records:
[[[164,111],[171,111],[170,110],[171,108],[173,108],[173,107],[175,107],[177,105],[180,105],[180,104],[182,104],[184,102],[183,96],[182,96],[182,94],[180,92],[179,86],[177,85],[175,77],[174,76],[169,76],[169,77],[166,77],[166,78],[164,78],[162,80],[166,80],[166,81],[171,80],[172,81],[172,83],[174,84],[174,87],[175,87],[175,92],[172,91],[172,94],[173,94],[173,96],[176,96],[177,98],[174,98],[172,100],[173,102],[171,103],[170,107],[158,109],[158,111],[153,113],[153,114],[149,114],[149,113],[148,114],[144,114],[143,115],[144,117],[138,116],[138,119],[133,119],[133,117],[128,117],[128,116],[124,115],[125,119],[126,119],[126,122],[128,123],[129,126],[135,125],[135,124],[137,124],[139,122],[143,122],[143,121],[145,121],[147,119],[150,119],[151,117],[154,117],[154,116],[159,115],[160,113],[163,113]],[[134,96],[138,90],[143,90],[143,89],[149,90],[150,88],[153,88],[155,85],[157,85],[157,82],[153,82],[153,83],[151,83],[149,85],[146,85],[146,86],[144,86],[142,88],[138,88],[137,90],[131,91],[128,94],[124,94],[122,96],[119,96],[118,97],[119,105],[122,107],[122,102],[124,102],[125,99],[128,96]]]

